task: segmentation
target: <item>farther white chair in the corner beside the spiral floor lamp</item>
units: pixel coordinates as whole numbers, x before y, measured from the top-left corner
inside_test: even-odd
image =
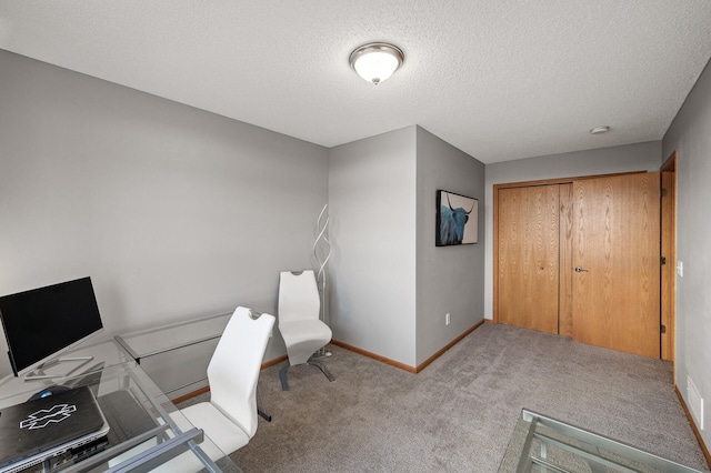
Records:
[[[331,341],[331,329],[319,319],[321,299],[313,271],[283,271],[279,275],[279,332],[284,339],[289,364],[281,369],[281,389],[289,390],[287,370],[297,364],[317,366],[329,381],[334,378],[326,366],[310,360]]]

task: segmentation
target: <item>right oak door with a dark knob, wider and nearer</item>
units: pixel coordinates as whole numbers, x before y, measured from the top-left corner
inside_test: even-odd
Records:
[[[573,182],[573,338],[660,356],[660,178]]]

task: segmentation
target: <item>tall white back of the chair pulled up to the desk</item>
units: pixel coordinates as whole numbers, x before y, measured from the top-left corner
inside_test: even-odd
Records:
[[[257,432],[257,381],[274,316],[252,319],[237,308],[218,342],[210,364],[210,402],[250,436]]]

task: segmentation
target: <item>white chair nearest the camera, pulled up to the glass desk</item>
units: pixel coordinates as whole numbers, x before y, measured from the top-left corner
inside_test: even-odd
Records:
[[[257,381],[273,325],[273,315],[252,319],[249,309],[237,308],[208,365],[210,401],[181,409],[224,454],[247,445],[257,432]],[[206,453],[212,460],[222,456]]]

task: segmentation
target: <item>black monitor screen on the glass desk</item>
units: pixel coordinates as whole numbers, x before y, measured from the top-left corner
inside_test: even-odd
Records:
[[[0,319],[16,375],[103,329],[90,278],[4,295]]]

